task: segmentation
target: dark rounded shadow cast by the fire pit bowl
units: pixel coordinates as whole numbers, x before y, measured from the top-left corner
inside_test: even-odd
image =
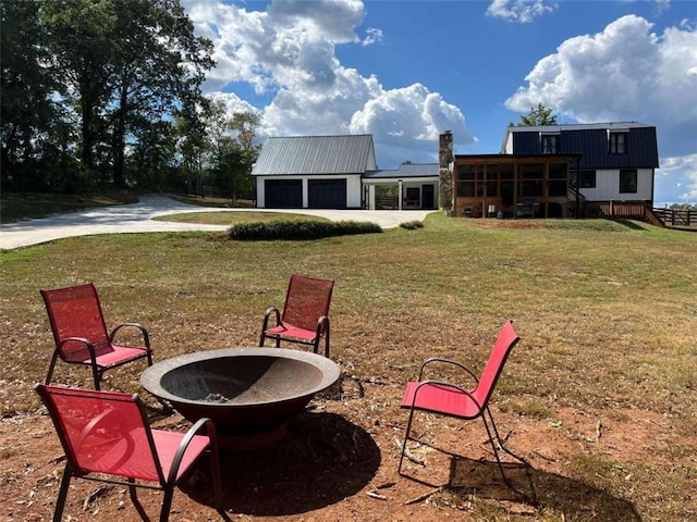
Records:
[[[380,465],[368,432],[334,413],[304,412],[279,443],[256,451],[222,450],[223,506],[235,515],[281,517],[337,504],[368,484]],[[212,506],[208,462],[182,490]]]

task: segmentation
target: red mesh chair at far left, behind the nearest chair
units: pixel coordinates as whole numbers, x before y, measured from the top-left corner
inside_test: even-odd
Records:
[[[99,296],[91,283],[40,291],[56,340],[46,384],[51,383],[59,357],[68,363],[89,365],[95,389],[99,389],[99,383],[107,370],[143,358],[147,359],[148,365],[152,364],[150,337],[143,325],[123,323],[113,328],[110,334],[107,333]],[[117,333],[124,327],[137,328],[145,346],[114,344]]]

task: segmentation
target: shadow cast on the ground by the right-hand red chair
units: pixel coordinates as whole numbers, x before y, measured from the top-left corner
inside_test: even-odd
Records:
[[[496,462],[451,457],[449,489],[465,500],[476,496],[522,504],[535,510],[554,510],[563,513],[563,520],[641,520],[632,502],[592,485],[525,464],[503,465],[510,487],[501,480]]]

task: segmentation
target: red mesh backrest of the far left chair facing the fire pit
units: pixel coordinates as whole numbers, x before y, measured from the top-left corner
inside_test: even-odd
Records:
[[[101,303],[97,289],[91,283],[41,290],[46,303],[56,347],[60,349],[64,359],[71,356],[84,355],[85,345],[82,343],[61,343],[68,337],[83,337],[89,340],[97,350],[109,346],[109,334],[101,311]]]

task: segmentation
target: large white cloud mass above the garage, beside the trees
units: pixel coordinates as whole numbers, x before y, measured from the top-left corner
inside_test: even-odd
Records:
[[[437,161],[438,135],[445,129],[458,146],[475,140],[462,112],[438,92],[420,84],[386,90],[375,75],[341,64],[337,46],[366,47],[383,37],[372,27],[358,37],[365,16],[359,0],[274,1],[266,12],[217,0],[184,5],[197,34],[215,45],[218,65],[206,91],[249,85],[265,95],[262,135],[369,133],[382,167]],[[230,100],[229,107],[242,101]]]

